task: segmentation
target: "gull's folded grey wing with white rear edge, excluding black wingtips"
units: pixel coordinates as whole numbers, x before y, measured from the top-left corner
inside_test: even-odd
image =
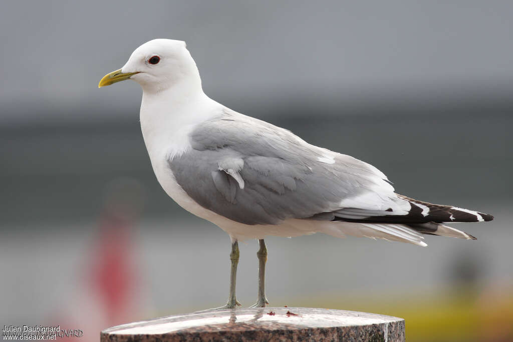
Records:
[[[242,114],[202,124],[190,142],[192,149],[169,160],[177,183],[201,206],[236,222],[279,224],[343,208],[400,207],[376,168]]]

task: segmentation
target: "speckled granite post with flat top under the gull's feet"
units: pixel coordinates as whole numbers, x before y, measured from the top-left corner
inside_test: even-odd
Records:
[[[404,341],[404,319],[310,308],[252,308],[155,318],[102,331],[125,341]]]

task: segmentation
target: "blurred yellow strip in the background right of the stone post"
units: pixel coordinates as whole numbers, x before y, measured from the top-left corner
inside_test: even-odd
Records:
[[[513,290],[459,289],[384,297],[331,295],[301,306],[373,312],[402,317],[408,341],[513,341]]]

